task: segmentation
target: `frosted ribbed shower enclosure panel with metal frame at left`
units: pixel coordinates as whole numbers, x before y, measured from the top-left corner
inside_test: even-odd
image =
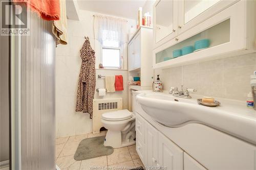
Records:
[[[50,170],[55,169],[55,37],[52,21],[29,13],[30,35],[5,36],[8,54],[1,52],[0,162],[5,159],[15,170]],[[2,60],[8,78],[2,75]],[[7,134],[2,133],[3,118]]]

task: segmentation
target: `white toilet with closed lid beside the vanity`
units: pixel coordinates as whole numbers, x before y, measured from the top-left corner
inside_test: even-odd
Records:
[[[103,126],[108,129],[104,146],[122,148],[135,144],[135,114],[127,109],[103,113]]]

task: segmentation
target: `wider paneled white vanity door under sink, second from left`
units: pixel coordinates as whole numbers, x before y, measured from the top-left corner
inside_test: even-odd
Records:
[[[158,133],[158,166],[168,170],[183,170],[183,150],[174,142]]]

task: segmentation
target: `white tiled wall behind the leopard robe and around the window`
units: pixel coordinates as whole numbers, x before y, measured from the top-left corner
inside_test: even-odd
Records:
[[[92,120],[89,118],[89,114],[75,112],[75,103],[81,64],[79,50],[84,42],[84,36],[89,36],[91,46],[95,50],[96,68],[99,65],[99,45],[98,41],[94,40],[94,14],[97,13],[79,10],[79,21],[68,19],[68,45],[58,45],[56,48],[56,137],[92,132]],[[127,19],[127,21],[127,28],[135,27],[135,20]],[[96,69],[96,88],[104,88],[104,79],[98,79],[98,74],[102,76],[122,75],[124,90],[107,93],[103,98],[123,98],[123,108],[127,109],[126,44],[124,45],[123,58],[124,70]],[[95,99],[101,99],[97,92]]]

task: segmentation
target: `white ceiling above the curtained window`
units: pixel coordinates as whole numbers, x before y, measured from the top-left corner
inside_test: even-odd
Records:
[[[138,9],[144,6],[146,0],[78,0],[77,2],[80,10],[137,19]]]

